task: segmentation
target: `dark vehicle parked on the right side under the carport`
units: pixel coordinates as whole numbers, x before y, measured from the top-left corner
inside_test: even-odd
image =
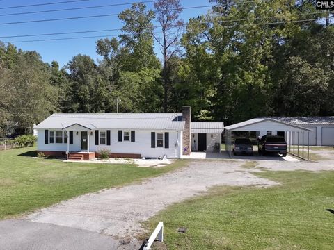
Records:
[[[277,135],[264,135],[259,140],[259,153],[262,156],[266,153],[280,153],[283,157],[287,156],[287,142],[283,137]]]

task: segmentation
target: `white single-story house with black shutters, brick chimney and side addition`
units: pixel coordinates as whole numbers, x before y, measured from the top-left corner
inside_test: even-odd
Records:
[[[81,160],[98,157],[102,149],[118,158],[182,158],[191,153],[191,136],[200,150],[214,151],[223,127],[191,122],[191,108],[184,106],[182,113],[54,114],[34,128],[39,152]]]

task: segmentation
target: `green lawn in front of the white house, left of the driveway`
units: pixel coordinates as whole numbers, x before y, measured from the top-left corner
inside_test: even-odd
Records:
[[[63,163],[33,159],[35,148],[0,151],[0,219],[50,206],[65,199],[103,188],[125,185],[182,167]]]

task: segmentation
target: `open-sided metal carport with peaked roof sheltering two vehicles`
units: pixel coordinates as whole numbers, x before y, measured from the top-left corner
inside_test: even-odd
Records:
[[[310,156],[310,132],[312,130],[280,122],[270,118],[255,118],[238,124],[225,127],[226,151],[232,158],[232,132],[233,131],[256,131],[257,136],[281,135],[288,142],[288,153],[309,160]],[[305,142],[305,138],[307,138]],[[304,147],[304,145],[307,145]],[[305,149],[307,150],[305,152]]]

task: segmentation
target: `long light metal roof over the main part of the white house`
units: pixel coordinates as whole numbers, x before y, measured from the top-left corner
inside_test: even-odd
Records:
[[[90,129],[183,130],[184,122],[177,122],[176,115],[182,117],[182,113],[54,114],[34,128],[63,129],[78,124]]]

